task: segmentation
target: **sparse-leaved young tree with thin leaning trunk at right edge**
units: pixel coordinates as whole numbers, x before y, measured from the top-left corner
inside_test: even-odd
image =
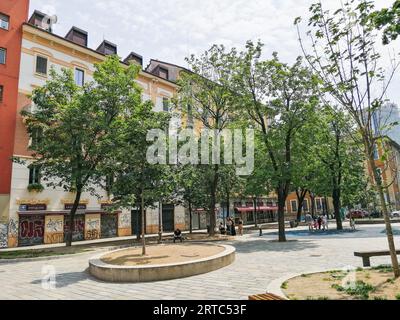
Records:
[[[380,119],[380,111],[399,63],[392,61],[392,68],[385,76],[376,49],[377,32],[370,19],[373,9],[372,2],[365,0],[350,1],[333,14],[324,10],[321,2],[312,5],[307,33],[310,52],[300,31],[301,18],[297,18],[295,24],[305,58],[321,79],[324,91],[357,126],[361,136],[357,143],[363,146],[379,194],[394,274],[400,277],[384,186],[374,159],[375,148],[382,140],[382,124],[386,122],[386,119]]]

